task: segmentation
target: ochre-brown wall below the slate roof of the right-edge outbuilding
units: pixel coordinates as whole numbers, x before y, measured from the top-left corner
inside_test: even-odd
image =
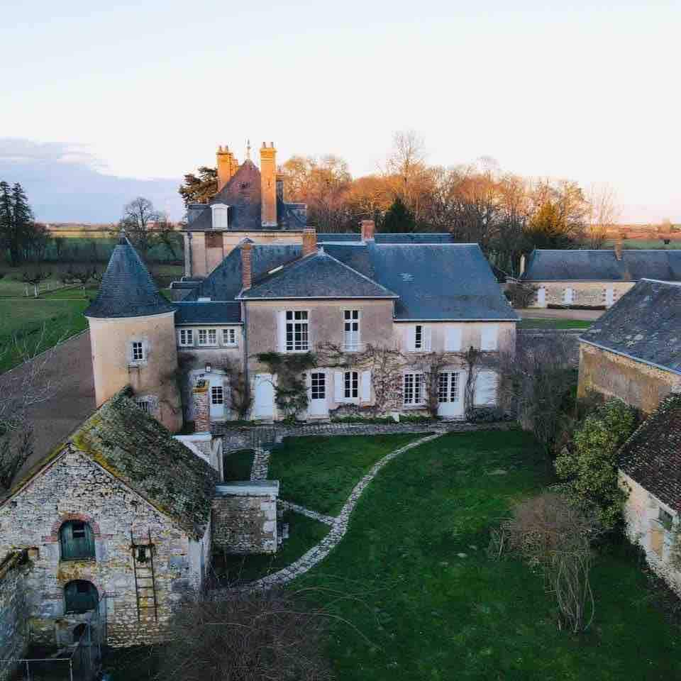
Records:
[[[605,397],[619,397],[646,414],[657,409],[681,376],[636,362],[622,355],[580,343],[580,381],[578,397],[590,391]]]

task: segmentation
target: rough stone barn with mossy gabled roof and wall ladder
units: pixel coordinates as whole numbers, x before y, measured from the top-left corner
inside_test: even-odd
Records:
[[[93,611],[109,645],[157,638],[204,587],[216,482],[129,389],[105,402],[0,502],[0,558],[28,557],[33,640],[55,643]]]

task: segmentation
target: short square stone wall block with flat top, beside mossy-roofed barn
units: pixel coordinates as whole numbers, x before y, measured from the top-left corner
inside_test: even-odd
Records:
[[[228,553],[275,553],[279,482],[232,482],[216,487],[213,546]]]

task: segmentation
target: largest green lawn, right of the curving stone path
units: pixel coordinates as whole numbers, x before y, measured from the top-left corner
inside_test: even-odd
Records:
[[[489,528],[550,482],[550,465],[521,431],[451,434],[389,463],[343,541],[292,585],[335,585],[364,602],[332,606],[370,639],[334,625],[338,680],[681,678],[678,631],[651,606],[631,553],[599,556],[596,618],[580,636],[558,631],[538,575],[487,557]]]

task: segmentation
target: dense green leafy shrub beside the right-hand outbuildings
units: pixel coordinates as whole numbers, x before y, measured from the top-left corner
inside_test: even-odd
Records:
[[[621,519],[626,493],[617,482],[616,455],[635,425],[636,412],[621,399],[611,399],[582,421],[555,460],[565,492],[577,502],[594,504],[606,528]]]

